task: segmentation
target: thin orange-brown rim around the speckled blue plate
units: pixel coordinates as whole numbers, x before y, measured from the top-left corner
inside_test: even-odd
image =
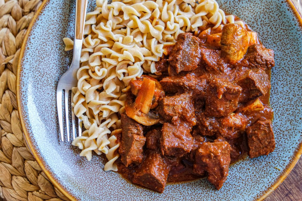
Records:
[[[24,124],[24,119],[22,116],[22,108],[23,106],[20,103],[20,74],[21,74],[21,66],[22,66],[22,60],[23,60],[23,56],[24,56],[24,51],[25,51],[25,47],[27,45],[27,39],[31,33],[31,29],[34,26],[37,18],[39,17],[39,15],[42,13],[43,8],[45,7],[45,5],[47,5],[47,2],[49,2],[50,0],[43,0],[42,4],[40,5],[40,7],[38,8],[37,12],[35,13],[33,19],[31,20],[28,28],[27,28],[27,32],[25,34],[24,37],[24,41],[20,50],[20,56],[19,56],[19,62],[18,62],[18,69],[17,69],[17,80],[16,80],[16,86],[17,86],[17,105],[18,105],[18,113],[19,113],[19,119],[21,122],[21,126],[22,126],[22,130],[23,130],[23,134],[25,137],[25,140],[27,142],[28,147],[31,150],[31,153],[34,155],[34,158],[36,159],[37,163],[40,165],[41,169],[43,170],[43,172],[47,175],[47,177],[50,179],[50,181],[54,184],[54,186],[56,188],[58,188],[68,199],[70,200],[76,200],[75,197],[73,197],[71,195],[70,192],[68,192],[61,184],[59,184],[59,182],[53,177],[53,175],[50,172],[50,169],[46,168],[46,163],[45,161],[42,159],[42,157],[40,157],[40,155],[38,154],[37,150],[34,149],[34,142],[32,141],[33,139],[31,139],[31,137],[29,136],[29,131],[27,130],[28,128],[25,126]],[[299,21],[299,26],[302,27],[302,18],[300,13],[297,11],[297,8],[295,7],[295,5],[291,2],[291,0],[286,0],[286,2],[288,2],[288,4],[291,6],[291,9],[293,11],[293,14],[295,15],[295,17],[297,18],[297,20]],[[274,184],[272,184],[270,187],[268,187],[267,190],[264,191],[264,193],[262,195],[259,195],[259,197],[257,198],[257,200],[263,200],[265,199],[270,193],[272,193],[283,181],[284,179],[288,176],[288,174],[291,172],[291,170],[294,168],[294,166],[296,165],[296,163],[298,162],[300,156],[302,155],[302,142],[300,142],[299,146],[297,147],[297,149],[295,150],[296,154],[293,155],[291,162],[287,165],[287,167],[284,169],[283,174],[276,180],[276,182]]]

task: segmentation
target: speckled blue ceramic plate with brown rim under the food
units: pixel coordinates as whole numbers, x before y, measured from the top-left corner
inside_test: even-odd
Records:
[[[74,0],[44,1],[31,22],[18,68],[18,107],[24,135],[43,171],[70,199],[78,200],[254,200],[263,199],[291,171],[302,152],[302,21],[291,2],[220,0],[220,7],[245,20],[262,43],[275,51],[271,107],[276,149],[268,156],[244,159],[230,167],[217,191],[207,179],[170,184],[162,194],[137,187],[105,161],[88,162],[80,150],[59,139],[56,85],[71,63],[63,37],[73,38]],[[89,0],[88,11],[95,0]],[[67,141],[67,140],[65,140]]]

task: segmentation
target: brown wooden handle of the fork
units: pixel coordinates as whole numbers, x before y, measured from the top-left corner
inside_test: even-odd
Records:
[[[76,39],[83,39],[87,0],[76,1]]]

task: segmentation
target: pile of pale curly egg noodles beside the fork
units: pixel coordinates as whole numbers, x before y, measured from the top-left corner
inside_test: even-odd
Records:
[[[164,46],[174,44],[179,33],[226,23],[242,21],[226,16],[214,0],[96,0],[86,15],[78,84],[72,88],[74,113],[86,129],[72,142],[80,155],[89,161],[92,151],[104,153],[104,170],[117,171],[115,134],[121,133],[118,113],[125,111],[129,82],[155,73]],[[63,40],[66,51],[73,49],[71,39]]]

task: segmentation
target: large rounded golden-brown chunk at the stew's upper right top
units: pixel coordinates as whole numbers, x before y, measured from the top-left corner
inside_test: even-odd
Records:
[[[224,25],[221,33],[221,56],[230,64],[243,58],[249,47],[247,30],[238,24]]]

